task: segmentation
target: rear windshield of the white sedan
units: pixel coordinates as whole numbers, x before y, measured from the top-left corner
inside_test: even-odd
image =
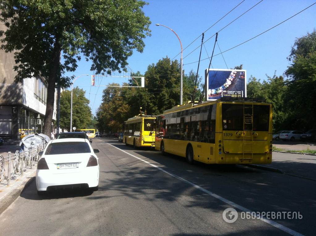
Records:
[[[51,143],[45,155],[90,153],[90,147],[86,142],[55,142]]]

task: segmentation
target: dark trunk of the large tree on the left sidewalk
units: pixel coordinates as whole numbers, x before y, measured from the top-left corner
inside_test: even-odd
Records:
[[[44,118],[44,127],[43,133],[51,136],[52,130],[52,119],[53,119],[53,112],[54,112],[54,101],[55,101],[55,86],[56,80],[58,79],[57,76],[60,74],[59,70],[59,57],[60,57],[61,48],[56,39],[54,44],[54,49],[52,53],[52,67],[49,72],[48,77],[48,87],[47,87],[47,100],[46,100],[46,112]]]

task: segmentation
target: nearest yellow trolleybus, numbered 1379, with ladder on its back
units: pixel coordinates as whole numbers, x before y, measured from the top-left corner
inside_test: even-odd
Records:
[[[244,98],[175,106],[157,116],[155,149],[189,163],[268,164],[272,108]]]

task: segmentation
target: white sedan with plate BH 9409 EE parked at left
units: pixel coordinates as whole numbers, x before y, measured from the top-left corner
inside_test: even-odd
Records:
[[[99,187],[99,149],[93,149],[84,138],[54,139],[48,142],[36,170],[38,195],[47,189],[73,186]]]

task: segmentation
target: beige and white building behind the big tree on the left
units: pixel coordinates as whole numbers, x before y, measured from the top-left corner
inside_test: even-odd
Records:
[[[0,25],[0,30],[6,30]],[[0,137],[18,139],[41,133],[46,112],[47,86],[41,76],[15,83],[14,54],[0,50]],[[53,119],[56,120],[56,90]],[[53,125],[52,125],[53,130]]]

